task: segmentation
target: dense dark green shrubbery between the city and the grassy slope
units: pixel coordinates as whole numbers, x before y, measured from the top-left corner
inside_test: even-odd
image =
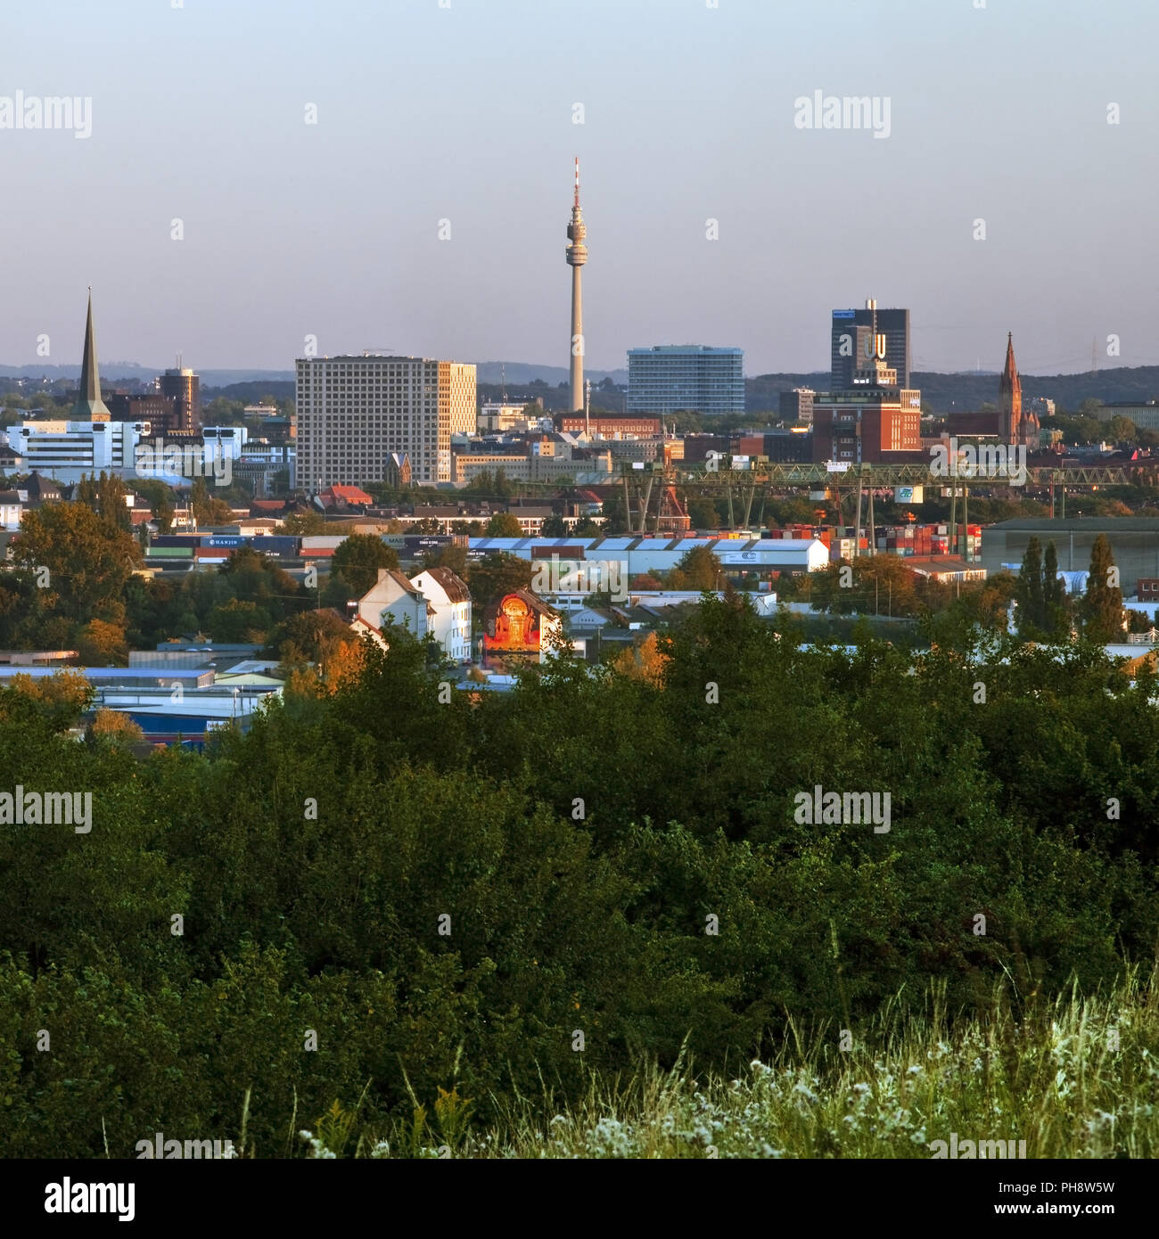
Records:
[[[248,1146],[300,1154],[335,1099],[387,1131],[457,1085],[487,1124],[682,1047],[735,1073],[790,1021],[871,1049],[931,984],[967,1015],[1111,986],[1159,930],[1154,683],[931,637],[802,650],[709,601],[661,688],[564,660],[444,704],[398,634],[144,763],[0,693],[0,790],[94,802],[89,835],[0,825],[0,1152],[237,1139],[249,1090]],[[797,824],[814,784],[889,792],[890,831]]]

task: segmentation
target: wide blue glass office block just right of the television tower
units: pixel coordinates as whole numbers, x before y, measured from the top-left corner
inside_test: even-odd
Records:
[[[745,411],[745,352],[708,344],[656,344],[627,353],[627,413]]]

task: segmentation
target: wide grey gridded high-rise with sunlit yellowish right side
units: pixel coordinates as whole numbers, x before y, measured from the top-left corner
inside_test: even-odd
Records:
[[[299,358],[297,477],[307,491],[382,482],[407,453],[420,486],[451,481],[451,434],[475,427],[475,367],[426,357]]]

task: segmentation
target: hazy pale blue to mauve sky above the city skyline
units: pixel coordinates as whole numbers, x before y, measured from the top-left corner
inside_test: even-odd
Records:
[[[1159,0],[176,2],[4,6],[0,125],[67,94],[92,134],[0,128],[0,362],[79,362],[92,284],[105,362],[566,366],[579,155],[593,368],[826,369],[866,296],[919,369],[1159,364]],[[797,128],[817,90],[889,136]]]

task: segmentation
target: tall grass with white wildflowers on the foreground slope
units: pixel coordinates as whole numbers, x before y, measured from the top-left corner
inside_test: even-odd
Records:
[[[940,991],[925,1012],[895,1001],[849,1051],[837,1030],[790,1026],[778,1052],[725,1075],[694,1064],[593,1075],[586,1094],[415,1098],[410,1121],[367,1127],[356,1157],[931,1157],[931,1141],[1025,1140],[1026,1157],[1159,1157],[1159,971],[1129,973],[1106,995],[1011,1000],[951,1020]],[[333,1125],[331,1115],[330,1124]],[[350,1130],[346,1127],[345,1130]],[[307,1156],[333,1156],[309,1134]]]

